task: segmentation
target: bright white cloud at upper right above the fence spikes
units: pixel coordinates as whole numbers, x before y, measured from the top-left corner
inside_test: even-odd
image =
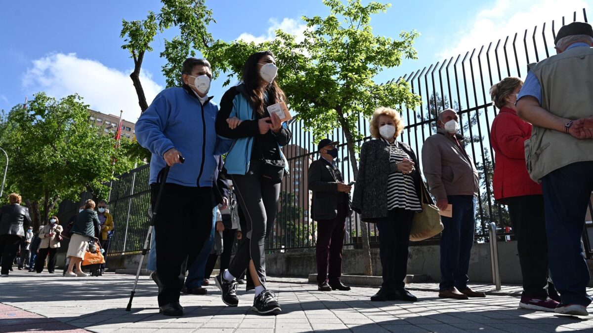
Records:
[[[467,29],[459,31],[456,41],[437,53],[438,59],[447,59],[465,54],[474,48],[487,45],[491,41],[512,37],[519,33],[517,41],[522,46],[525,28],[528,31],[528,38],[531,40],[533,28],[538,27],[538,43],[541,43],[541,28],[546,24],[546,31],[551,36],[551,21],[555,20],[555,30],[562,26],[562,16],[565,16],[566,23],[573,21],[573,12],[577,11],[576,18],[582,21],[582,8],[588,8],[586,0],[541,0],[537,3],[532,0],[496,0],[494,4],[476,14],[474,21],[467,25]],[[520,37],[520,39],[519,39]],[[549,47],[553,47],[548,45]]]

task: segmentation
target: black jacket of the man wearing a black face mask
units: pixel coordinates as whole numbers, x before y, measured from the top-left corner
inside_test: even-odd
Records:
[[[309,190],[313,191],[311,199],[313,220],[335,219],[339,200],[346,201],[347,214],[350,214],[350,194],[337,190],[337,183],[344,181],[339,169],[333,168],[330,162],[320,158],[309,165],[308,178]]]

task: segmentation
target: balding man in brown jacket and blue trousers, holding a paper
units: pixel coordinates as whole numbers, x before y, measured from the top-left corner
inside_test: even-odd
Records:
[[[422,169],[436,206],[452,205],[452,217],[442,216],[441,284],[439,297],[486,297],[467,286],[471,246],[474,243],[478,172],[467,155],[464,137],[457,134],[458,117],[452,109],[439,114],[436,134],[422,146]]]

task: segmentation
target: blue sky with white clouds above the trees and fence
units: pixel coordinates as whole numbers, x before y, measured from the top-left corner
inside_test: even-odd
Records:
[[[397,37],[402,30],[417,30],[419,59],[405,60],[400,68],[388,69],[376,79],[388,79],[415,71],[431,63],[479,47],[490,40],[550,18],[569,15],[589,7],[592,0],[533,1],[398,1],[371,24],[375,34]],[[301,15],[327,15],[321,0],[216,0],[207,1],[217,21],[210,31],[215,39],[270,39],[271,29],[302,31]],[[54,97],[78,92],[91,108],[118,114],[135,121],[139,107],[132,81],[127,77],[132,59],[122,50],[119,37],[122,18],[144,18],[149,10],[158,12],[160,1],[33,1],[5,2],[0,11],[0,110],[10,110],[25,96],[46,91]],[[301,30],[299,30],[301,29]],[[157,37],[154,52],[145,57],[142,82],[152,100],[164,87]],[[215,101],[222,96],[222,79],[213,82]]]

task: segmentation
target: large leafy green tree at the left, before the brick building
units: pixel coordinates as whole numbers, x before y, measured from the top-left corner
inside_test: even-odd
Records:
[[[35,228],[64,198],[77,200],[84,190],[106,197],[104,182],[133,165],[125,150],[114,148],[112,137],[97,135],[88,116],[78,95],[56,100],[40,92],[27,108],[16,105],[2,120],[8,188],[23,196]]]

